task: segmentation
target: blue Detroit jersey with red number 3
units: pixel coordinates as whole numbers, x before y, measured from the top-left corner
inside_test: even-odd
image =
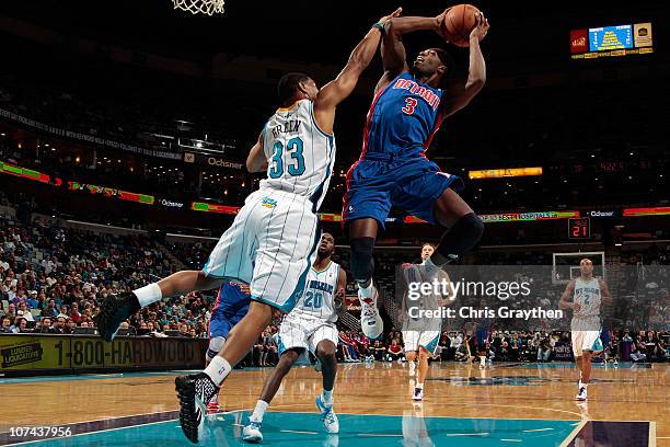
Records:
[[[439,129],[443,91],[401,73],[384,88],[368,112],[362,158],[383,153],[397,158],[420,156]]]

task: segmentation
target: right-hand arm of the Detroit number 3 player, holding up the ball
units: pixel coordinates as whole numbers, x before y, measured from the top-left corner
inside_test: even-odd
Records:
[[[467,80],[463,82],[454,82],[447,89],[447,94],[442,101],[442,114],[444,116],[453,115],[461,108],[465,107],[473,98],[486,83],[486,61],[482,54],[480,42],[486,36],[489,28],[488,20],[480,12],[475,16],[475,27],[470,33],[470,66],[467,70]]]

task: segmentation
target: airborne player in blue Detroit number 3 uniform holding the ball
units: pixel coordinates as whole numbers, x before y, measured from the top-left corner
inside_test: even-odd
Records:
[[[347,173],[344,219],[351,245],[351,274],[358,283],[361,326],[377,339],[382,320],[372,282],[372,250],[392,206],[444,227],[435,253],[425,262],[425,280],[432,280],[448,262],[480,240],[482,221],[457,194],[461,179],[441,172],[425,152],[442,121],[465,107],[482,90],[486,66],[480,42],[488,21],[477,14],[470,33],[470,70],[466,82],[449,82],[453,69],[443,49],[418,54],[409,67],[403,34],[419,30],[440,32],[446,12],[437,18],[394,18],[385,26],[382,43],[384,74],[377,84],[368,112],[360,159]]]

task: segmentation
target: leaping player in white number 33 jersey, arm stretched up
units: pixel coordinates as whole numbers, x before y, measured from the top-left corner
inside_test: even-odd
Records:
[[[281,107],[270,116],[246,159],[250,172],[267,172],[221,236],[201,271],[177,272],[129,294],[109,296],[101,306],[97,328],[111,341],[123,320],[164,297],[246,283],[252,302],[230,332],[223,348],[199,374],[175,379],[186,437],[197,443],[206,404],[238,362],[270,323],[273,309],[289,312],[304,290],[319,242],[316,211],[328,187],[335,161],[335,108],[356,87],[379,47],[382,18],[356,46],[337,78],[323,89],[307,74],[279,80]],[[382,23],[383,22],[383,23]]]

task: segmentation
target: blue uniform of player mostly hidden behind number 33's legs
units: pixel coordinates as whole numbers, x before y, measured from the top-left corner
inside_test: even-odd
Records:
[[[209,332],[211,336],[228,337],[228,332],[240,322],[249,311],[251,295],[240,289],[240,283],[226,282],[219,288],[217,301],[211,311]]]

